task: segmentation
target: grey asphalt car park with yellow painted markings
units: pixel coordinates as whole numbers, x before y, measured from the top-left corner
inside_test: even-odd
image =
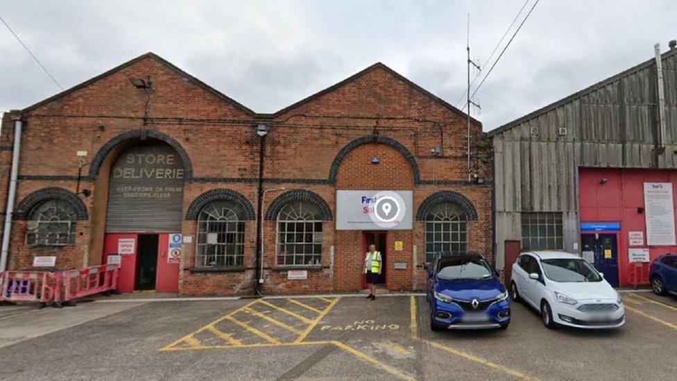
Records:
[[[603,331],[548,330],[537,312],[512,303],[507,330],[432,332],[422,296],[97,300],[12,310],[0,314],[0,337],[2,325],[19,320],[119,307],[0,348],[0,378],[674,378],[677,298],[623,295],[626,325]]]

